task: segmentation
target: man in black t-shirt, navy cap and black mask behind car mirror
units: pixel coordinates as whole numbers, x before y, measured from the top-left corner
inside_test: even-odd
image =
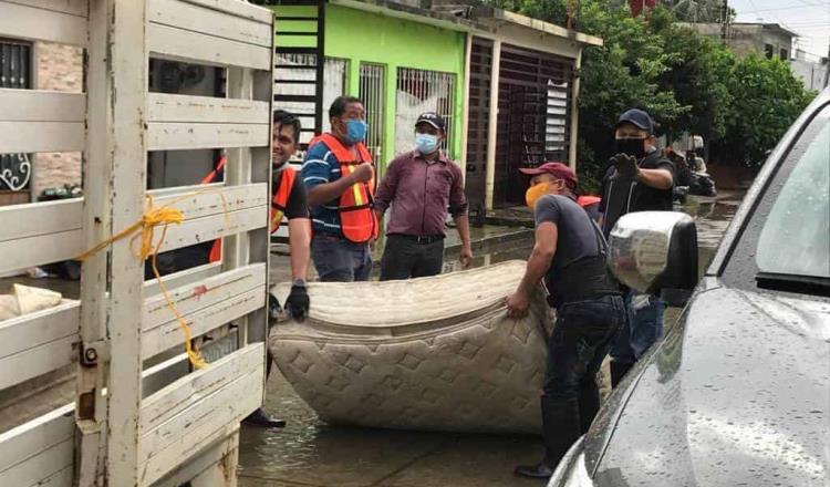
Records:
[[[642,110],[620,115],[615,128],[616,155],[603,180],[602,230],[611,234],[616,220],[633,211],[671,211],[674,164],[656,147],[654,122]],[[657,296],[625,296],[629,325],[620,330],[611,349],[611,382],[616,385],[625,372],[663,336],[665,302]]]

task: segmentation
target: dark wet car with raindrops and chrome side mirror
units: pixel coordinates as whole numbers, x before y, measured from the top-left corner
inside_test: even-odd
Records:
[[[687,304],[549,487],[827,486],[830,90],[770,154],[689,299],[672,289],[693,272],[689,219],[636,215],[611,236],[615,273]]]

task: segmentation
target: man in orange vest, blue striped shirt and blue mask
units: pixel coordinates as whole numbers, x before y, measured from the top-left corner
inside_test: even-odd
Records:
[[[331,132],[310,144],[301,172],[314,230],[311,256],[321,281],[365,281],[372,271],[369,244],[377,237],[377,218],[372,209],[374,165],[363,144],[363,103],[340,96],[329,118]]]

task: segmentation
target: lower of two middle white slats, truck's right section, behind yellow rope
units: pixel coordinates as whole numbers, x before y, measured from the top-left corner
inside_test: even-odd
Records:
[[[229,211],[227,215],[186,219],[179,225],[170,225],[167,229],[167,237],[162,245],[162,251],[179,249],[262,228],[268,225],[267,208],[264,206],[248,208]]]

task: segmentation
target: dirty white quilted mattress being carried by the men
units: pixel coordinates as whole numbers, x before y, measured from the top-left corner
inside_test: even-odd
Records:
[[[551,311],[504,299],[525,262],[409,281],[310,283],[303,323],[273,327],[282,374],[322,419],[373,427],[539,433]],[[274,287],[284,302],[289,288]]]

